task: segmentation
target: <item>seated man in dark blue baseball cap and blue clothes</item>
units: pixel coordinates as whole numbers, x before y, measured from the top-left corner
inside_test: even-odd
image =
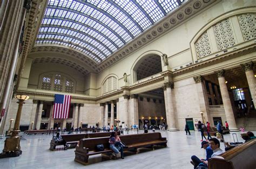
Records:
[[[190,163],[194,165],[194,168],[196,168],[200,163],[203,163],[203,161],[207,161],[208,158],[212,157],[213,151],[207,141],[201,142],[201,148],[206,150],[206,159],[199,159],[197,156],[192,156],[192,161],[190,161]]]

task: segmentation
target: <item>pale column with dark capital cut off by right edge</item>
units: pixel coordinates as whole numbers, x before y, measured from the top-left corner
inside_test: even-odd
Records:
[[[250,89],[253,104],[254,104],[254,109],[256,109],[256,79],[253,72],[254,64],[253,62],[249,62],[249,63],[242,64],[241,66],[245,71],[245,75],[247,78],[247,82],[249,85],[249,89]]]

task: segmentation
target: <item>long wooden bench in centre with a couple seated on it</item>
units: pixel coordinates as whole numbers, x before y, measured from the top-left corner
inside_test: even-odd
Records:
[[[161,145],[167,146],[166,138],[161,137],[161,133],[143,133],[143,134],[129,134],[120,136],[120,139],[126,144],[128,148],[125,148],[125,151],[137,150],[142,147],[151,147],[154,150],[154,146]],[[76,147],[75,150],[75,161],[80,164],[88,164],[89,156],[95,154],[105,154],[113,152],[109,148],[109,137],[102,138],[87,138],[79,141],[80,144]],[[97,151],[96,145],[103,144],[104,151]]]

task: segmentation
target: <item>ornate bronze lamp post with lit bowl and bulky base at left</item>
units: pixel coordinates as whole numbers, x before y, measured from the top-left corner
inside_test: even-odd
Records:
[[[17,94],[15,98],[18,99],[17,103],[19,105],[14,123],[14,129],[11,131],[11,136],[5,140],[4,149],[0,154],[0,158],[18,157],[20,154],[22,154],[21,146],[19,145],[19,142],[21,141],[21,136],[19,136],[19,121],[21,120],[21,112],[24,100],[28,100],[29,96],[24,94]]]

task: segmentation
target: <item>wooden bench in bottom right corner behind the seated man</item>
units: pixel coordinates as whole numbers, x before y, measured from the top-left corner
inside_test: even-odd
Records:
[[[256,139],[232,148],[220,156],[208,160],[209,169],[255,169],[256,168]]]

